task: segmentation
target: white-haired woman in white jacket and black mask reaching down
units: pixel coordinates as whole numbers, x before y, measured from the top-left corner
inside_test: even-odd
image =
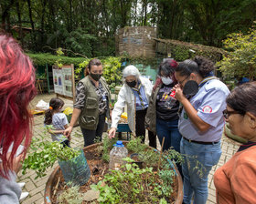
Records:
[[[125,82],[112,110],[112,128],[109,131],[109,137],[115,137],[118,121],[123,113],[123,107],[127,105],[129,128],[133,135],[143,137],[144,142],[144,118],[153,85],[149,79],[140,76],[140,72],[135,66],[126,66],[123,69],[123,79]],[[154,134],[149,132],[151,146],[156,146],[155,139]]]

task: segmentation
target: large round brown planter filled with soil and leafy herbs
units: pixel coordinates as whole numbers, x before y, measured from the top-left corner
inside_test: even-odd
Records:
[[[86,185],[80,188],[81,193],[88,191],[100,192],[98,198],[94,198],[94,203],[182,203],[182,179],[176,168],[165,154],[158,154],[155,149],[141,144],[139,139],[130,142],[123,141],[129,149],[129,155],[139,153],[142,157],[147,157],[144,167],[138,168],[133,164],[133,159],[125,158],[126,164],[121,170],[109,170],[109,153],[114,140],[107,137],[102,143],[97,143],[84,148],[85,157],[91,168],[91,179]],[[133,150],[131,150],[133,149]],[[95,158],[99,158],[95,160]],[[160,163],[159,163],[160,158]],[[159,165],[160,164],[160,165]],[[48,179],[45,191],[45,202],[57,202],[61,191],[65,190],[63,184],[58,183],[57,178],[61,178],[59,167],[55,168]],[[54,195],[54,189],[58,193]],[[87,199],[84,199],[87,200]],[[84,201],[84,203],[87,203]],[[89,202],[90,203],[90,202]]]

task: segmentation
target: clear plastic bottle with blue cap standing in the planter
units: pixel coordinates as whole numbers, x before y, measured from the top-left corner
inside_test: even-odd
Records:
[[[125,161],[123,158],[127,158],[128,150],[124,148],[122,141],[117,141],[116,144],[113,145],[114,148],[111,150],[110,154],[110,169],[119,170]]]

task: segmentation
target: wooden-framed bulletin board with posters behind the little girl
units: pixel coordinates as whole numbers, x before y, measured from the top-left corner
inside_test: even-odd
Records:
[[[52,66],[54,93],[75,100],[74,65]]]

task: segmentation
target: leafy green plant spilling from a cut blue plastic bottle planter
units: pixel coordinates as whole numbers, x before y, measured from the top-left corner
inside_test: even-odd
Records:
[[[46,176],[47,168],[52,168],[58,160],[66,183],[72,182],[75,185],[83,185],[90,179],[91,171],[80,148],[63,148],[59,141],[47,141],[46,132],[40,138],[33,138],[28,157],[23,162],[23,171],[33,169],[37,177]]]

